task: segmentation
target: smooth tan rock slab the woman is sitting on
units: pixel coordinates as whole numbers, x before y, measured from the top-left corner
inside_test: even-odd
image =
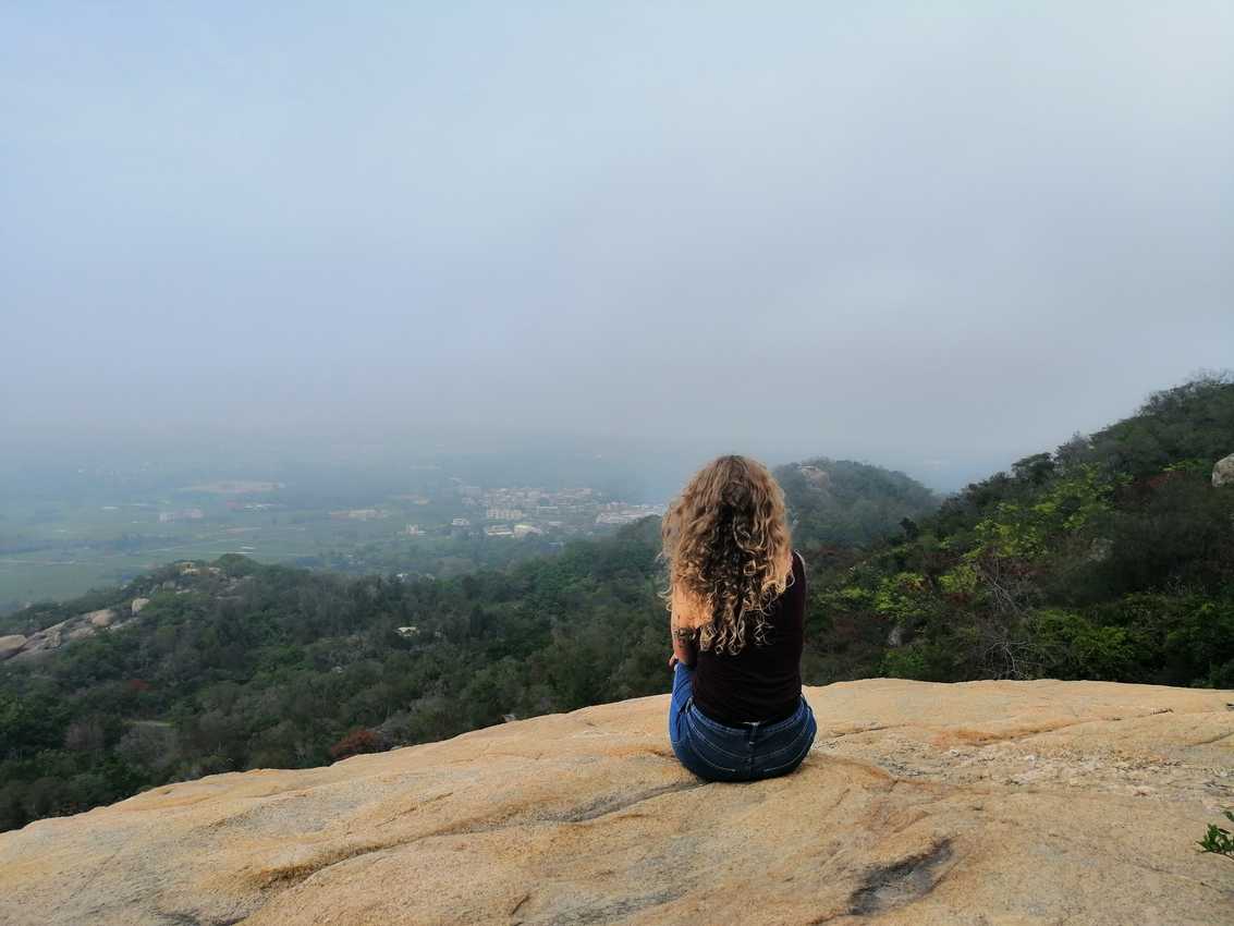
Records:
[[[327,768],[157,788],[0,835],[0,922],[1228,926],[1232,691],[807,689],[793,774],[708,784],[666,696]]]

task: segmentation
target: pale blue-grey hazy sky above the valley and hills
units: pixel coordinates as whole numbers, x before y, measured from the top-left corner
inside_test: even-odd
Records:
[[[275,6],[0,7],[0,442],[943,484],[1234,365],[1228,0]]]

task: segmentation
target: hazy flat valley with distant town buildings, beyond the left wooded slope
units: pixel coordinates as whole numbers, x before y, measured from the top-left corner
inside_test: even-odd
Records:
[[[185,480],[117,493],[125,474],[81,470],[88,490],[77,498],[44,498],[0,519],[0,612],[226,553],[349,573],[452,575],[665,510],[589,485],[484,485],[437,465],[405,472],[402,491],[312,472],[294,482]]]

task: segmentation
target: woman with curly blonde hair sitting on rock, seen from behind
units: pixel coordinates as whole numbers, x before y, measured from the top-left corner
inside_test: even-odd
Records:
[[[669,741],[713,782],[792,772],[817,724],[801,694],[806,563],[766,467],[719,457],[664,516],[673,633]]]

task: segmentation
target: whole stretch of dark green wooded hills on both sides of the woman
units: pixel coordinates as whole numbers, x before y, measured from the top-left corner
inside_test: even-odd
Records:
[[[1234,688],[1234,485],[1211,478],[1232,452],[1234,384],[1198,380],[897,517],[896,536],[866,548],[826,532],[840,485],[928,500],[858,464],[781,469],[810,564],[803,680]],[[821,484],[827,499],[802,504]],[[658,531],[647,519],[437,580],[225,557],[10,615],[0,635],[63,626],[73,642],[0,662],[0,828],[168,780],[666,691]]]

